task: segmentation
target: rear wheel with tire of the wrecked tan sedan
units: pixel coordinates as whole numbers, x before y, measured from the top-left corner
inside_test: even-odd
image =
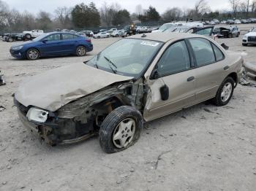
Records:
[[[232,77],[227,77],[224,79],[222,84],[219,86],[215,98],[212,99],[213,104],[216,106],[225,106],[230,101],[234,88],[235,81]]]

